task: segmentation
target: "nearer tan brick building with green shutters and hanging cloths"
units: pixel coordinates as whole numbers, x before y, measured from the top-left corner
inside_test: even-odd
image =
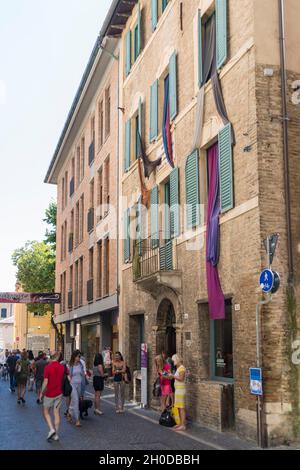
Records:
[[[187,367],[191,419],[255,439],[249,368],[257,363],[259,274],[267,264],[263,240],[279,233],[273,266],[282,283],[263,307],[261,324],[263,433],[269,444],[297,434],[300,390],[299,366],[291,362],[298,322],[299,106],[291,98],[299,79],[299,4],[284,2],[282,18],[290,180],[284,164],[280,14],[272,0],[136,2],[121,34],[119,72],[123,350],[139,369],[140,344],[148,344],[151,385],[155,356],[162,350],[179,353]],[[138,133],[144,167],[147,160],[161,159],[144,179]],[[218,270],[213,261],[208,266],[208,256]],[[215,305],[220,295],[223,307]],[[216,319],[221,311],[224,318]],[[151,386],[149,397],[153,404]]]

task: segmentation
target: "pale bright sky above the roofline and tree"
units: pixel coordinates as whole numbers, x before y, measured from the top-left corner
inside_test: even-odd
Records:
[[[42,240],[43,181],[111,0],[0,0],[0,292],[11,254]]]

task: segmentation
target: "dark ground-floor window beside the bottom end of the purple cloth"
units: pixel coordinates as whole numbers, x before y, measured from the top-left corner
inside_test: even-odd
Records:
[[[225,320],[211,320],[212,379],[233,379],[232,301],[226,300]]]

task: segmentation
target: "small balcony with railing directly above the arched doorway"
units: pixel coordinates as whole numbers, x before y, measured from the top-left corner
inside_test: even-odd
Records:
[[[135,243],[133,250],[133,281],[143,291],[155,295],[161,287],[177,293],[182,290],[182,272],[177,269],[177,247],[174,240],[151,238]]]

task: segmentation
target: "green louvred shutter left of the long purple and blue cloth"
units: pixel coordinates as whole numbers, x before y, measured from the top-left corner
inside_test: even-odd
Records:
[[[199,211],[199,158],[198,151],[190,155],[185,165],[185,191],[187,228],[196,227],[200,223]]]

